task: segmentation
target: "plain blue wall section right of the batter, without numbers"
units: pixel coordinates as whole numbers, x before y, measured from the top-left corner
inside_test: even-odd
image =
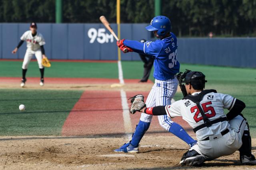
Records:
[[[256,38],[178,38],[178,61],[256,68]]]

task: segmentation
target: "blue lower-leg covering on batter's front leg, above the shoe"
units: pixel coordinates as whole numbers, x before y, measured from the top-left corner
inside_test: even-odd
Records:
[[[130,141],[130,143],[134,147],[139,146],[140,140],[142,139],[142,137],[144,136],[144,134],[148,130],[149,126],[150,126],[150,123],[147,123],[147,122],[144,122],[144,121],[139,121],[134,133],[132,134],[132,141]]]

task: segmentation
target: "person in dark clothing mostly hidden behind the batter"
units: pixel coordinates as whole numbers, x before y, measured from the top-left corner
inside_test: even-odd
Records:
[[[145,43],[146,40],[141,39],[140,42]],[[139,82],[147,82],[148,77],[150,76],[151,68],[154,64],[154,57],[152,57],[150,55],[145,55],[145,54],[139,54],[139,55],[140,55],[140,59],[144,63],[144,65],[143,65],[143,67],[144,67],[143,77]]]

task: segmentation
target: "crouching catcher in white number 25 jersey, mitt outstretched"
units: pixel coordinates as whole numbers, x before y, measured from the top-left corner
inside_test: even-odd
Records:
[[[216,90],[203,90],[205,75],[202,72],[186,70],[178,74],[180,88],[184,95],[171,105],[146,108],[142,95],[134,96],[131,113],[144,112],[150,115],[182,116],[193,128],[198,140],[180,161],[181,165],[198,166],[206,160],[240,152],[243,165],[256,165],[252,155],[249,125],[241,114],[244,102]],[[185,83],[186,85],[182,84]],[[229,112],[224,114],[224,109]]]

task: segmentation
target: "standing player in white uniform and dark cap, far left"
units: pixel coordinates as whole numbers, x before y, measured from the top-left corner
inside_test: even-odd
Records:
[[[42,65],[42,58],[45,58],[44,45],[45,41],[42,34],[36,31],[37,26],[35,22],[30,23],[30,31],[26,31],[21,37],[18,46],[12,51],[15,54],[18,51],[18,48],[26,41],[27,50],[24,57],[24,61],[22,63],[22,79],[21,79],[21,87],[25,86],[26,82],[26,72],[28,70],[28,64],[32,59],[33,55],[36,56],[41,79],[40,86],[44,86],[44,66]]]

